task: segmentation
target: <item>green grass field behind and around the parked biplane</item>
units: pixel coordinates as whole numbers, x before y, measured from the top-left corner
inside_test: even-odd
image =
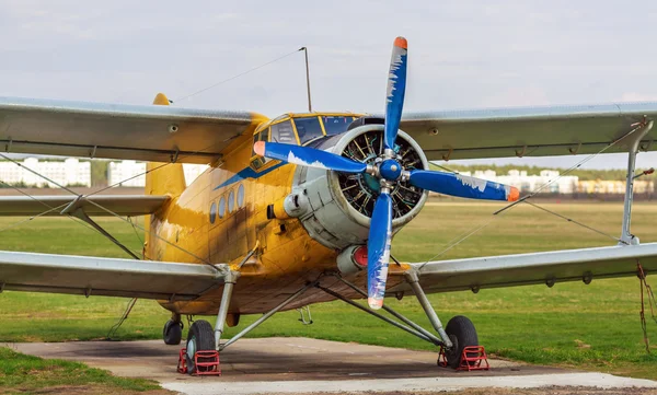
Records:
[[[553,202],[543,206],[612,235],[620,233],[622,204]],[[433,201],[395,237],[393,254],[408,262],[429,259],[456,236],[488,221],[491,213],[499,207],[495,204]],[[656,218],[657,205],[635,205],[632,230],[642,242],[657,241]],[[18,220],[0,219],[0,229]],[[140,241],[129,225],[113,219],[99,222],[136,251],[140,249]],[[609,237],[520,205],[441,255],[440,259],[612,244],[615,242]],[[69,219],[37,219],[0,232],[0,249],[125,256],[112,243]],[[648,277],[648,282],[650,280]],[[434,294],[430,300],[443,323],[457,314],[468,315],[477,327],[480,341],[488,352],[497,356],[657,379],[657,356],[647,355],[643,342],[636,278],[593,280],[590,286],[557,283],[552,289],[532,286],[482,290],[479,294]],[[100,339],[120,316],[127,302],[126,299],[100,297],[84,299],[4,292],[0,294],[0,341]],[[391,299],[387,303],[429,326],[414,298]],[[313,325],[301,325],[297,312],[286,312],[274,316],[250,336],[307,336],[434,349],[342,302],[313,305],[311,311]],[[116,337],[124,340],[159,339],[168,317],[169,313],[155,302],[140,300]],[[238,328],[229,329],[228,336],[252,320],[243,317]],[[657,324],[652,321],[648,321],[648,333],[657,344]],[[656,347],[653,349],[657,351]]]

